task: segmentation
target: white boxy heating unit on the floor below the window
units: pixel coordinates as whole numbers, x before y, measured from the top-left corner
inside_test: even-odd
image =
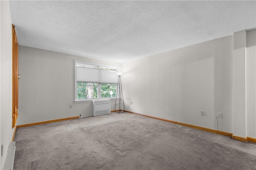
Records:
[[[110,100],[93,100],[92,115],[99,116],[111,113]]]

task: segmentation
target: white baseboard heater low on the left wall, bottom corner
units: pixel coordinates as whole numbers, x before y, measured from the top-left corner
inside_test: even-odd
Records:
[[[9,144],[8,150],[7,150],[7,155],[6,155],[6,160],[4,162],[4,170],[12,170],[13,169],[13,163],[14,163],[14,155],[15,155],[15,146],[16,142],[11,142]]]

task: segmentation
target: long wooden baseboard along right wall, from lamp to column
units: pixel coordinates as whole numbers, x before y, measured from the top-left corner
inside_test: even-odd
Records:
[[[125,111],[125,112],[132,113],[132,114],[136,114],[136,115],[141,115],[141,116],[145,116],[145,117],[150,117],[150,118],[158,119],[158,120],[162,120],[162,121],[167,121],[167,122],[169,122],[169,123],[175,123],[175,124],[182,125],[182,126],[186,126],[186,127],[192,127],[192,128],[194,128],[194,129],[199,129],[199,130],[202,130],[202,131],[208,131],[208,132],[211,132],[211,133],[216,133],[216,134],[224,135],[224,136],[228,136],[228,137],[232,137],[232,135],[233,135],[232,133],[228,133],[228,132],[217,131],[217,130],[208,129],[208,128],[205,128],[205,127],[190,125],[190,124],[186,124],[186,123],[180,123],[180,122],[178,122],[178,121],[172,121],[172,120],[168,120],[168,119],[162,119],[162,118],[159,118],[159,117],[154,117],[154,116],[149,116],[149,115],[142,115],[142,114],[140,114],[140,113],[134,113],[134,112],[132,112],[132,111]]]

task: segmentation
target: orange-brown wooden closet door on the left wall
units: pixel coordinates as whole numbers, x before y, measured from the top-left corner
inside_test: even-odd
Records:
[[[12,128],[15,127],[18,117],[18,41],[14,25],[12,25]]]

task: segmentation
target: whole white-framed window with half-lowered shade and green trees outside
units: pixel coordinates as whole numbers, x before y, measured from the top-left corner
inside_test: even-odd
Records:
[[[120,67],[75,61],[75,102],[116,98]]]

